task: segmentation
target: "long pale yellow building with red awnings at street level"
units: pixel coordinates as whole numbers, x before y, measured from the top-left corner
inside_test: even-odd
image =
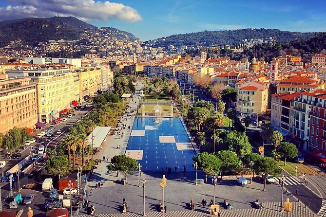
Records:
[[[58,70],[15,70],[8,71],[9,77],[30,77],[37,84],[38,121],[51,123],[59,112],[68,109],[76,94],[77,77],[68,69]]]

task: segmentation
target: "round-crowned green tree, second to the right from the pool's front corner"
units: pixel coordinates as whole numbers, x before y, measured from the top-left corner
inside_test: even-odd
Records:
[[[216,153],[216,156],[222,162],[221,179],[226,171],[235,169],[239,166],[239,159],[235,152],[229,150],[222,150]]]

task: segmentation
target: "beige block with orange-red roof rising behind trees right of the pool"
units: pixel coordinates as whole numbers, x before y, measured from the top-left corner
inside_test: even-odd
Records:
[[[245,116],[249,114],[264,114],[268,105],[268,85],[252,81],[241,84],[237,88],[237,111]]]

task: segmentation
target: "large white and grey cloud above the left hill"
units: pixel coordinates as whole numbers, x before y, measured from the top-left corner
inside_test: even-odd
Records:
[[[132,7],[95,0],[10,0],[15,5],[0,7],[0,20],[26,17],[73,16],[82,20],[118,19],[127,22],[142,18]]]

